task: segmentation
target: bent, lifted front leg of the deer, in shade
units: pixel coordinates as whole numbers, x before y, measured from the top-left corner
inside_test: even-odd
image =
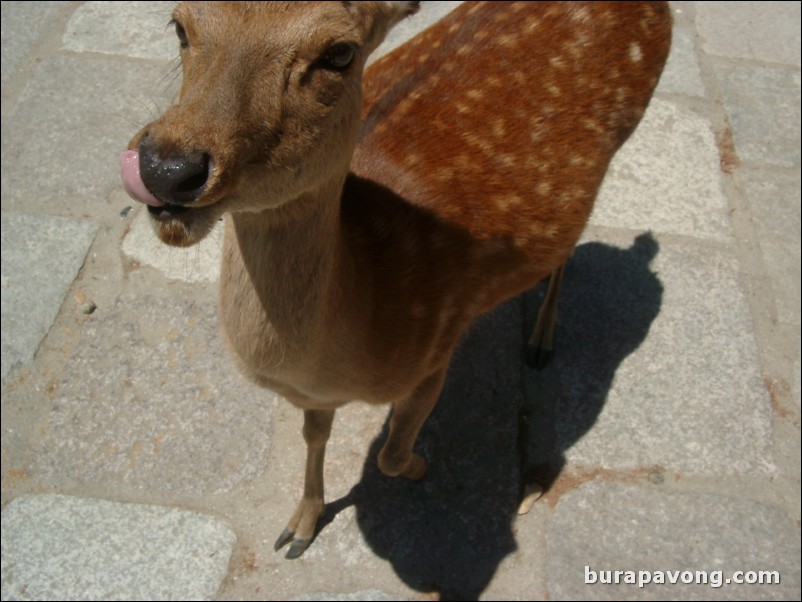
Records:
[[[423,423],[440,397],[446,370],[427,377],[415,391],[393,404],[390,434],[379,452],[379,469],[386,475],[398,475],[417,481],[426,474],[426,461],[412,451]]]

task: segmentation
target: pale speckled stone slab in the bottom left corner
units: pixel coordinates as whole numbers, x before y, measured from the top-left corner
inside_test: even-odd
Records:
[[[3,509],[4,600],[211,600],[236,544],[196,512],[64,495]]]

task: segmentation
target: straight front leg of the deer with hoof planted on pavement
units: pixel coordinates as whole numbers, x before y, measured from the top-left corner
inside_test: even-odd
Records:
[[[333,421],[334,410],[304,410],[303,434],[306,441],[304,495],[287,528],[279,535],[273,546],[275,550],[279,550],[291,541],[285,558],[298,558],[304,553],[312,542],[317,519],[323,513],[323,461]]]

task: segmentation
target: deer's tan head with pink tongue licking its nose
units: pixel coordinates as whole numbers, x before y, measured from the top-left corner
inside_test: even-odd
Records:
[[[121,157],[126,189],[173,246],[199,242],[226,212],[276,209],[341,187],[365,60],[417,10],[416,2],[209,4],[173,12],[178,103]]]

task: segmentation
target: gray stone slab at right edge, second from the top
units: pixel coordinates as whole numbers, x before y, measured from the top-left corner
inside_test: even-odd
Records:
[[[713,67],[738,157],[799,167],[799,70],[729,61]]]

